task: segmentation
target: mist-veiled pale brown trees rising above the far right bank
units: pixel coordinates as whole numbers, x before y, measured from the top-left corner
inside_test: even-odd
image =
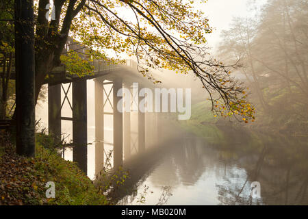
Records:
[[[307,130],[307,12],[306,0],[270,0],[259,18],[238,18],[224,31],[224,58],[241,60],[248,82],[259,85],[252,87],[263,128]]]

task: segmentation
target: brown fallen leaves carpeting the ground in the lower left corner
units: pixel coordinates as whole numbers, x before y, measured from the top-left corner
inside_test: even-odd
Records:
[[[10,141],[1,136],[0,205],[42,205],[44,182],[36,175],[33,159],[16,155]]]

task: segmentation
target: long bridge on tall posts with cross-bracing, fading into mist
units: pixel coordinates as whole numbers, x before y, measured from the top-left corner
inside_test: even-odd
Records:
[[[70,39],[71,40],[71,39]],[[67,44],[70,44],[68,41]],[[81,44],[75,43],[70,49],[83,49]],[[138,82],[142,87],[153,89],[155,86],[149,79],[142,77],[136,68],[136,62],[126,60],[125,64],[108,64],[104,60],[94,60],[94,73],[84,77],[71,76],[65,66],[53,69],[48,83],[48,114],[49,133],[60,139],[62,135],[62,121],[73,122],[73,162],[87,172],[88,163],[88,127],[87,127],[87,80],[94,79],[95,100],[95,174],[103,168],[106,151],[104,149],[104,118],[112,116],[113,120],[113,167],[123,166],[123,160],[128,161],[133,155],[141,154],[147,148],[157,146],[164,135],[162,119],[166,113],[119,112],[117,104],[121,96],[117,95],[120,88],[130,90],[131,109],[138,109],[140,96],[133,93],[133,83]],[[64,86],[66,83],[66,86]],[[71,90],[71,100],[68,92]],[[64,94],[64,99],[62,98]],[[125,95],[125,94],[124,94]],[[143,99],[144,97],[142,97]],[[62,116],[64,104],[68,104],[72,112],[71,117]],[[132,114],[135,114],[137,130],[131,128]]]

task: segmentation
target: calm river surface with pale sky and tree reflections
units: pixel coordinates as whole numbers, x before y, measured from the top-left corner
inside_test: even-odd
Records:
[[[207,127],[131,164],[118,205],[307,205],[307,158],[307,139]],[[251,197],[253,181],[260,198]]]

